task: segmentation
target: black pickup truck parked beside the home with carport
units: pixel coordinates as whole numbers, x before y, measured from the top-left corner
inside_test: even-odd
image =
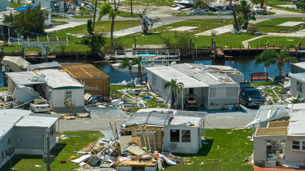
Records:
[[[249,106],[261,106],[265,104],[264,97],[252,86],[240,86],[239,102]]]

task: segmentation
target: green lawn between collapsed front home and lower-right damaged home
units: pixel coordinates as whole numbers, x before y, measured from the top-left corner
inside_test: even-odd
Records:
[[[253,170],[253,165],[245,165],[247,161],[243,161],[246,157],[252,155],[253,142],[247,138],[252,136],[251,129],[206,129],[205,140],[209,144],[202,144],[197,154],[182,154],[174,153],[180,157],[187,157],[192,165],[177,165],[168,166],[167,171],[224,171],[238,170],[250,171]],[[227,132],[231,134],[227,134]],[[249,132],[249,133],[248,133]],[[248,144],[246,144],[246,143]],[[218,148],[218,146],[219,148]],[[221,155],[222,154],[222,155]],[[210,160],[215,159],[215,160]],[[215,161],[215,162],[213,162]],[[219,162],[218,162],[219,161]],[[208,163],[211,162],[211,163]],[[199,165],[201,163],[208,163]]]

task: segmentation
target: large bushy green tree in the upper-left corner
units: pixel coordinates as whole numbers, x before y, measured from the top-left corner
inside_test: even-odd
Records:
[[[30,36],[32,33],[44,34],[45,19],[47,19],[49,12],[46,10],[41,10],[40,2],[36,7],[27,6],[27,10],[19,11],[16,13],[9,13],[9,15],[4,15],[3,24],[8,24],[11,26],[12,30],[18,30],[18,33],[23,34],[23,36]],[[22,33],[23,31],[27,31]],[[31,32],[31,33],[28,33]],[[16,37],[18,36],[16,33]]]

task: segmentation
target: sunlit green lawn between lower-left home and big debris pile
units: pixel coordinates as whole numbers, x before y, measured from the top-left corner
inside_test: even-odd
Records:
[[[58,132],[57,132],[58,134]],[[79,165],[70,164],[70,160],[66,163],[60,163],[61,160],[67,160],[70,156],[76,156],[75,159],[81,157],[81,155],[77,155],[73,151],[77,151],[91,142],[97,141],[99,137],[103,137],[104,135],[100,131],[70,131],[60,133],[63,135],[72,135],[72,136],[80,136],[82,138],[77,137],[69,137],[69,139],[65,139],[59,141],[57,146],[65,146],[60,147],[59,150],[51,150],[51,155],[55,155],[55,162],[52,162],[52,170],[56,171],[69,171],[76,168],[79,168]],[[85,135],[85,134],[95,134],[95,135]],[[94,138],[86,138],[92,137]],[[42,167],[36,167],[35,165],[40,165]],[[42,162],[41,155],[15,155],[12,158],[12,167],[13,169],[22,170],[22,171],[32,171],[32,170],[44,170],[44,164]],[[2,167],[1,170],[10,170],[9,162],[6,163]]]

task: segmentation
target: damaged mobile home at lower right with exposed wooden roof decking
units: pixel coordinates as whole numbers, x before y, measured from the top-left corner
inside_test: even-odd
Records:
[[[270,121],[254,135],[254,162],[305,166],[305,104],[293,104],[289,121]]]

